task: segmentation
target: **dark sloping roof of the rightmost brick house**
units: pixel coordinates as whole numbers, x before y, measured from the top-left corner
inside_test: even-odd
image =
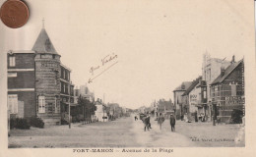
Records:
[[[224,70],[224,76],[222,77],[222,75],[220,75],[218,78],[216,78],[211,85],[216,84],[216,83],[221,83],[224,81],[224,78],[226,78],[227,76],[229,76],[233,70],[238,67],[240,65],[240,63],[243,62],[243,59],[241,59],[238,62],[232,63],[231,65],[229,65],[225,70]]]

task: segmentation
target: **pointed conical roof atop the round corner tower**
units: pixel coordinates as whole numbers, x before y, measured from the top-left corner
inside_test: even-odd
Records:
[[[35,43],[33,44],[32,51],[35,51],[35,53],[58,55],[44,28],[41,29]]]

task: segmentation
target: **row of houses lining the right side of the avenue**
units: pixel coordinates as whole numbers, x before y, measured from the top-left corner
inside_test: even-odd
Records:
[[[202,76],[173,90],[176,119],[229,123],[234,110],[244,114],[244,61],[203,57]]]

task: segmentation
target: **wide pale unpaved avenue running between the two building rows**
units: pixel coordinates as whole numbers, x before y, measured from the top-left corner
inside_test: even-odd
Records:
[[[213,126],[211,123],[177,121],[176,132],[168,120],[162,131],[151,118],[152,130],[144,131],[134,117],[111,122],[51,126],[44,129],[11,130],[9,147],[211,147],[244,146],[244,128],[238,125]]]

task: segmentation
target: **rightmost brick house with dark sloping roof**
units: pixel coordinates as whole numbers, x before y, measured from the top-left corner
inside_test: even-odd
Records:
[[[217,118],[222,122],[229,122],[233,109],[242,111],[244,108],[243,66],[243,60],[232,63],[225,70],[224,77],[220,77],[220,80],[211,85],[212,104],[216,106]]]

